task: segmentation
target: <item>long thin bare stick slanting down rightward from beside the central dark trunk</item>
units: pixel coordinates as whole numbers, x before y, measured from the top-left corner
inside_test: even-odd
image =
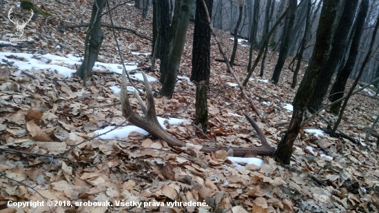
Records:
[[[232,74],[232,76],[234,77],[234,79],[236,79],[237,83],[238,83],[238,87],[240,88],[242,94],[243,94],[243,97],[250,103],[250,105],[252,105],[252,108],[253,110],[256,112],[256,114],[258,114],[258,116],[260,116],[260,112],[259,110],[256,108],[256,106],[254,105],[252,99],[250,99],[248,96],[247,96],[247,93],[245,92],[245,89],[243,88],[243,85],[242,83],[240,83],[240,80],[238,79],[236,73],[233,71],[233,69],[230,67],[230,64],[229,64],[229,59],[227,59],[227,56],[226,54],[224,53],[223,51],[223,47],[221,46],[221,43],[220,41],[218,40],[217,36],[216,36],[216,32],[214,32],[214,29],[212,27],[212,22],[211,22],[211,18],[209,17],[209,12],[208,12],[208,8],[207,8],[207,5],[205,4],[205,1],[204,0],[201,0],[203,1],[203,6],[205,8],[205,14],[207,15],[207,21],[208,21],[208,25],[209,25],[209,28],[211,28],[211,31],[212,31],[212,34],[213,34],[213,37],[214,39],[216,40],[217,42],[217,45],[218,45],[218,50],[220,50],[220,53],[223,55],[223,58],[224,58],[224,61],[225,61],[225,64],[227,66],[227,69],[229,70],[229,72]],[[262,120],[264,121],[265,119],[262,117]]]

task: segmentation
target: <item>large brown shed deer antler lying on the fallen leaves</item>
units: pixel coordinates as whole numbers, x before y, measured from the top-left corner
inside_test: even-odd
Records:
[[[179,141],[174,136],[171,136],[168,132],[163,130],[161,124],[159,124],[158,119],[156,118],[155,105],[154,105],[154,97],[152,94],[152,89],[150,88],[150,84],[147,81],[147,77],[144,72],[143,81],[145,83],[146,90],[146,100],[147,106],[143,103],[141,97],[139,97],[138,92],[134,90],[136,93],[136,97],[139,100],[139,104],[141,105],[143,114],[145,116],[141,117],[136,113],[133,113],[132,107],[130,106],[129,95],[127,94],[126,89],[126,71],[123,69],[123,74],[121,77],[121,110],[123,112],[123,116],[125,118],[129,118],[128,121],[133,125],[136,125],[139,128],[149,132],[152,136],[155,136],[158,139],[166,141],[166,143],[172,147],[185,147],[185,142]],[[234,156],[245,156],[247,152],[254,151],[256,154],[260,156],[272,156],[275,153],[275,149],[267,143],[265,135],[262,130],[256,125],[256,123],[244,112],[249,123],[253,125],[253,128],[258,132],[258,136],[260,141],[262,142],[262,146],[254,147],[254,148],[232,148]],[[229,150],[230,148],[222,147],[203,147],[201,149],[202,152],[214,152],[217,150]]]

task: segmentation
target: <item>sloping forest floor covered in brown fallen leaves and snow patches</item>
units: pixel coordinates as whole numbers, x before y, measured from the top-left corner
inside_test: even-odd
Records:
[[[17,1],[8,3],[3,3],[0,10],[0,45],[16,34],[7,18],[10,7],[14,7],[14,20],[30,15],[17,8]],[[242,110],[256,121],[261,118],[243,99],[235,80],[226,73],[225,64],[215,61],[222,57],[212,38],[209,132],[207,136],[198,132],[192,123],[196,86],[188,81],[194,30],[194,24],[190,23],[174,97],[155,99],[156,114],[167,132],[194,144],[195,152],[181,152],[125,122],[119,97],[121,62],[111,29],[103,28],[104,41],[92,84],[84,87],[72,75],[83,57],[87,28],[59,27],[88,23],[90,5],[83,3],[77,8],[74,2],[65,0],[34,3],[43,6],[52,17],[34,14],[24,32],[24,37],[33,41],[0,49],[1,213],[223,212],[223,209],[378,212],[378,145],[372,136],[364,140],[379,114],[379,97],[374,96],[371,88],[349,100],[338,129],[359,139],[361,145],[320,131],[337,118],[326,110],[301,130],[290,169],[277,165],[272,157],[234,159],[224,152],[199,152],[201,145],[259,146],[258,135],[241,116]],[[121,6],[113,15],[116,26],[152,37],[151,8],[146,20],[132,5]],[[110,23],[109,18],[104,16],[103,23]],[[217,35],[229,56],[232,36],[222,30],[217,30]],[[129,70],[151,65],[147,58],[152,49],[149,40],[125,30],[116,30],[116,36]],[[246,76],[248,52],[248,44],[241,42],[236,57],[238,65],[234,66],[241,79]],[[258,77],[257,69],[246,88],[267,119],[267,123],[258,125],[274,147],[287,130],[291,102],[298,88],[290,88],[292,72],[287,69],[290,59],[278,85],[269,81],[276,59],[277,53],[269,52],[264,76]],[[298,82],[306,66],[303,63]],[[130,74],[137,87],[143,89],[141,75],[136,71]],[[152,89],[159,90],[158,70],[147,74]],[[135,97],[131,100],[132,107],[141,114]],[[102,134],[113,128],[116,130]],[[378,134],[378,128],[374,132]],[[65,158],[51,157],[74,145],[77,147],[65,153]],[[206,168],[191,160],[196,154],[198,162],[206,164]],[[23,204],[43,201],[44,205],[14,206],[16,203],[10,201]],[[51,207],[48,201],[53,202]],[[89,202],[103,203],[88,206]]]

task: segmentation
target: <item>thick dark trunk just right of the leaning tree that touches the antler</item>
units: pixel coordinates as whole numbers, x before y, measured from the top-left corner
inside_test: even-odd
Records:
[[[324,99],[325,94],[327,94],[331,77],[333,77],[340,60],[343,57],[349,30],[353,25],[357,6],[358,0],[346,1],[345,3],[342,17],[340,17],[341,21],[338,23],[336,34],[331,43],[329,59],[327,59],[324,68],[322,68],[320,77],[318,77],[316,83],[318,89],[314,90],[314,93],[311,95],[311,101],[309,101],[308,110],[311,112],[316,112],[321,108],[322,100]]]

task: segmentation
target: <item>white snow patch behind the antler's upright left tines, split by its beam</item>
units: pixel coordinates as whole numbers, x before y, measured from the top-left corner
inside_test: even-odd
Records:
[[[159,124],[161,124],[162,128],[166,130],[165,121],[169,123],[170,125],[177,125],[180,123],[183,123],[185,121],[188,121],[187,119],[176,119],[176,118],[169,118],[164,119],[161,117],[156,117],[158,119]],[[103,128],[102,130],[96,130],[94,131],[94,134],[103,134],[104,132],[110,131],[114,128],[114,126],[107,126],[106,128]],[[145,130],[136,127],[135,125],[126,125],[122,128],[118,128],[116,130],[113,130],[111,132],[108,132],[107,134],[103,134],[99,136],[101,139],[117,139],[117,138],[126,138],[129,136],[130,132],[139,132],[141,134],[148,134]]]

